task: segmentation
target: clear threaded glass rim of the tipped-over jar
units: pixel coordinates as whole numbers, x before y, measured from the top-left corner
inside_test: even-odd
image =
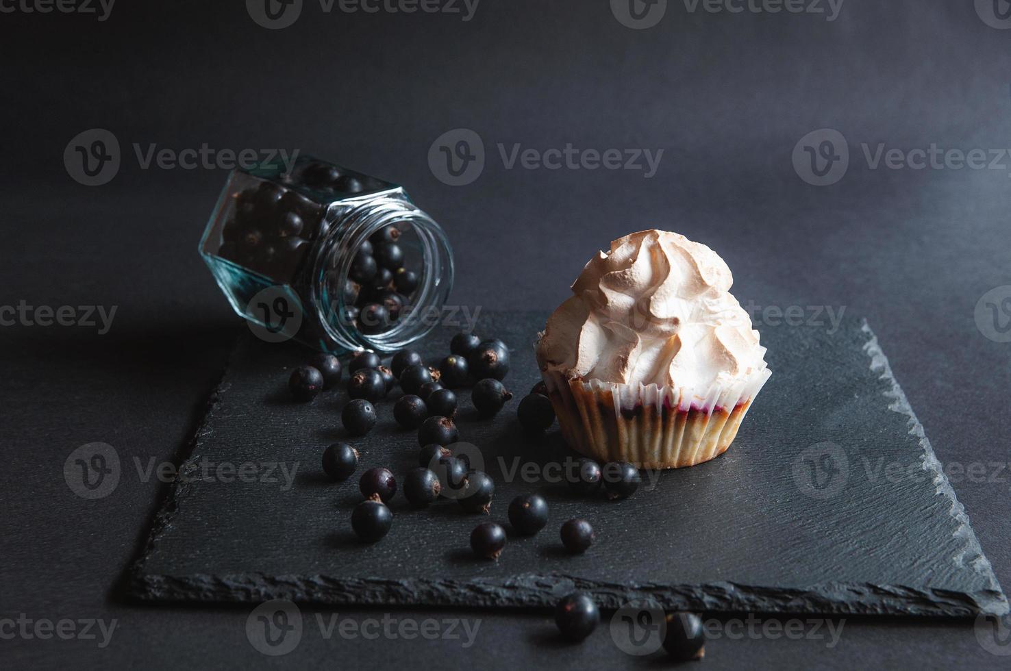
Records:
[[[350,209],[347,203],[335,203],[328,218],[333,224],[317,249],[311,282],[316,317],[331,341],[321,342],[321,349],[333,351],[336,346],[343,351],[393,352],[424,338],[439,324],[452,290],[453,255],[445,232],[432,217],[407,200],[380,197]],[[419,282],[398,318],[379,332],[366,333],[346,316],[354,302],[348,301],[344,288],[351,281],[357,252],[386,226],[395,226],[404,237],[409,234],[409,242],[404,243],[417,262]]]

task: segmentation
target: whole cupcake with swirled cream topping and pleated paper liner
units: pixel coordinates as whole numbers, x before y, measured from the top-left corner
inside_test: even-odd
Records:
[[[771,375],[732,283],[719,255],[665,230],[591,259],[536,346],[565,441],[639,468],[726,452]]]

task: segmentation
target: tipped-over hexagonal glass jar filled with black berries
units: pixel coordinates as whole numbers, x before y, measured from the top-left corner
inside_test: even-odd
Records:
[[[258,335],[335,354],[423,338],[453,286],[446,234],[402,187],[311,157],[233,172],[200,255]]]

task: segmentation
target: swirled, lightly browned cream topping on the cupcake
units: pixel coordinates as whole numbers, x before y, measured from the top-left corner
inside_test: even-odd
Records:
[[[626,235],[582,269],[538,361],[569,377],[696,389],[759,373],[765,348],[733,281],[719,255],[683,235]]]

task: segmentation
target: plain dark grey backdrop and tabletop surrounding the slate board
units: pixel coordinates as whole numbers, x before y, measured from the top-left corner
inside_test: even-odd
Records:
[[[1011,284],[1009,168],[870,170],[860,149],[1011,147],[1011,31],[986,25],[973,0],[846,0],[832,22],[691,13],[671,0],[647,30],[623,26],[603,0],[483,0],[467,22],[325,14],[306,0],[301,18],[276,31],[242,2],[120,0],[104,22],[18,11],[0,14],[0,302],[118,306],[104,335],[0,328],[0,617],[118,619],[103,650],[0,641],[15,666],[656,665],[624,655],[606,628],[560,646],[543,613],[467,613],[483,619],[470,650],[309,632],[292,654],[266,658],[246,640],[246,609],[125,603],[118,581],[161,487],[130,467],[112,495],[85,501],[67,487],[64,460],[94,441],[124,463],[172,459],[241,327],[196,254],[226,173],[142,170],[133,142],[300,149],[404,184],[453,241],[453,302],[489,309],[551,308],[612,238],[682,232],[726,259],[742,303],[866,316],[942,463],[1009,461],[1011,346],[974,319],[985,292]],[[123,164],[89,188],[71,179],[63,154],[93,127],[117,136]],[[458,127],[482,136],[488,163],[454,188],[433,176],[428,152]],[[822,127],[845,135],[851,160],[839,183],[819,188],[791,156]],[[664,155],[652,179],[505,170],[499,142]],[[985,480],[953,486],[1008,585],[1009,476]],[[971,624],[849,618],[832,650],[723,640],[705,665],[1002,661]]]

